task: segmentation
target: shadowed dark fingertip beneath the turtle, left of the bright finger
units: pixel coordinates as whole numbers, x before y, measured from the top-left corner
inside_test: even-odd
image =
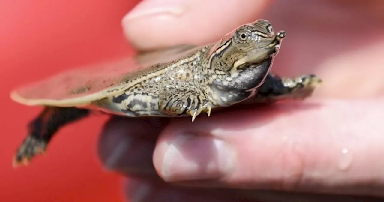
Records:
[[[98,152],[107,169],[124,174],[156,174],[152,154],[166,119],[115,117],[105,125]]]

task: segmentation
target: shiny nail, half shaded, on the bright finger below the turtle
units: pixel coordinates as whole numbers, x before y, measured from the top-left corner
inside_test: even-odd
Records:
[[[166,181],[217,179],[236,161],[235,150],[212,136],[179,135],[165,148],[161,174]]]

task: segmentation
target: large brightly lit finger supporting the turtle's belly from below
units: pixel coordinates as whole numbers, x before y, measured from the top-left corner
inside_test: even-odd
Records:
[[[383,119],[377,99],[180,120],[159,137],[154,165],[180,184],[383,196]]]

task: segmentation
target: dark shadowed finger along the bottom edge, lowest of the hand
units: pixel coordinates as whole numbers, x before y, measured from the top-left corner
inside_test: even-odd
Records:
[[[180,187],[161,180],[129,178],[125,181],[124,195],[132,202],[376,202],[380,199],[342,195],[301,194],[288,192],[204,189]]]

